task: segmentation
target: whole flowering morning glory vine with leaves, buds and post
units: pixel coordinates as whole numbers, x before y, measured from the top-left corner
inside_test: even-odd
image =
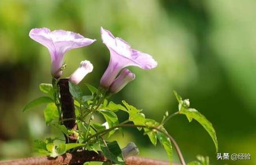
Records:
[[[46,125],[54,126],[64,134],[64,138],[55,137],[46,140],[35,140],[34,149],[49,157],[58,157],[65,153],[77,153],[83,151],[98,151],[104,155],[103,164],[125,164],[125,159],[131,155],[138,154],[136,144],[129,143],[120,149],[118,141],[109,141],[109,137],[122,128],[133,127],[144,131],[153,145],[157,141],[163,145],[167,152],[169,162],[173,160],[172,145],[176,149],[181,164],[186,164],[185,159],[176,141],[164,128],[165,123],[178,114],[184,114],[188,121],[193,119],[199,122],[212,138],[216,150],[218,142],[215,130],[200,112],[190,108],[188,99],[182,99],[176,91],[174,95],[178,100],[178,111],[169,115],[165,112],[163,120],[157,122],[146,118],[141,109],[128,104],[125,100],[122,104],[109,102],[112,95],[122,90],[128,83],[135,79],[135,74],[126,67],[136,66],[144,70],[155,68],[158,63],[149,54],[132,49],[123,39],[115,37],[109,30],[101,28],[101,38],[110,51],[110,62],[100,80],[98,88],[86,84],[91,94],[84,94],[79,87],[83,78],[93,71],[93,65],[89,61],[82,61],[80,66],[70,75],[61,78],[68,62],[63,58],[66,52],[74,48],[85,47],[95,42],[95,39],[84,38],[84,36],[64,30],[50,31],[47,28],[32,29],[30,38],[44,45],[51,55],[51,84],[40,84],[39,89],[47,96],[34,99],[27,104],[23,111],[34,108],[40,104],[47,104],[44,109]],[[116,112],[123,111],[129,117],[119,122]],[[95,115],[101,115],[105,122],[95,120]],[[108,135],[106,137],[106,135]],[[105,159],[106,158],[106,159]],[[188,164],[209,164],[207,157],[201,157],[198,161]],[[89,160],[87,160],[89,161]]]

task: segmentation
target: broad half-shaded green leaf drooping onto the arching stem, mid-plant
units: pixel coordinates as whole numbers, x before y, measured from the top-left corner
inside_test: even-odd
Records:
[[[107,111],[104,109],[101,109],[99,111],[101,114],[103,114],[104,118],[106,119],[107,123],[109,124],[109,127],[113,127],[119,124],[118,117],[116,114],[112,111]],[[112,130],[109,132],[109,136],[113,135],[115,133],[115,130]]]

